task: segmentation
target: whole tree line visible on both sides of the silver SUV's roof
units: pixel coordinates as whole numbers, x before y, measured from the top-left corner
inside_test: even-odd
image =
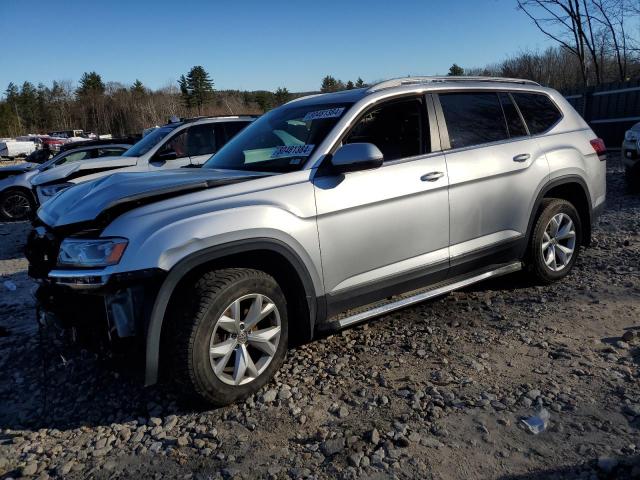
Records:
[[[518,8],[554,42],[486,66],[452,65],[450,75],[519,77],[560,91],[640,78],[640,0],[515,0]],[[320,91],[362,88],[358,78],[325,76]],[[312,93],[312,92],[307,92]],[[171,116],[260,114],[306,93],[285,87],[271,92],[215,90],[210,75],[194,66],[177,84],[151,90],[105,82],[86,72],[78,85],[10,83],[0,99],[0,137],[82,128],[113,135],[137,134]]]

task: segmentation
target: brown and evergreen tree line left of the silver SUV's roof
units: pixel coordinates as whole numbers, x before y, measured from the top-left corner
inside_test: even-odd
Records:
[[[284,88],[270,91],[215,90],[201,66],[181,75],[177,84],[152,90],[140,80],[131,85],[105,82],[86,72],[77,85],[9,83],[0,99],[0,137],[82,128],[114,136],[140,134],[172,116],[260,114],[296,96]]]

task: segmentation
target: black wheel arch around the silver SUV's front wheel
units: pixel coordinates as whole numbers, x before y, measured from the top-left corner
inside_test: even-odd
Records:
[[[270,238],[210,247],[178,262],[159,287],[145,328],[145,385],[158,381],[163,324],[179,288],[199,272],[230,266],[256,268],[273,276],[284,290],[289,318],[299,318],[295,322],[290,320],[292,340],[311,340],[318,310],[317,295],[307,267],[291,247]]]

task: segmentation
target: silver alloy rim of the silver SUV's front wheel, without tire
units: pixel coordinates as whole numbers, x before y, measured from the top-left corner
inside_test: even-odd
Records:
[[[266,295],[234,300],[218,318],[209,342],[209,361],[218,379],[245,385],[269,366],[280,342],[280,312]]]

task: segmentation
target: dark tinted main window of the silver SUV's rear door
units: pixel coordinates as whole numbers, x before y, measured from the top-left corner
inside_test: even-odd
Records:
[[[509,138],[496,93],[441,93],[439,98],[451,148]]]

